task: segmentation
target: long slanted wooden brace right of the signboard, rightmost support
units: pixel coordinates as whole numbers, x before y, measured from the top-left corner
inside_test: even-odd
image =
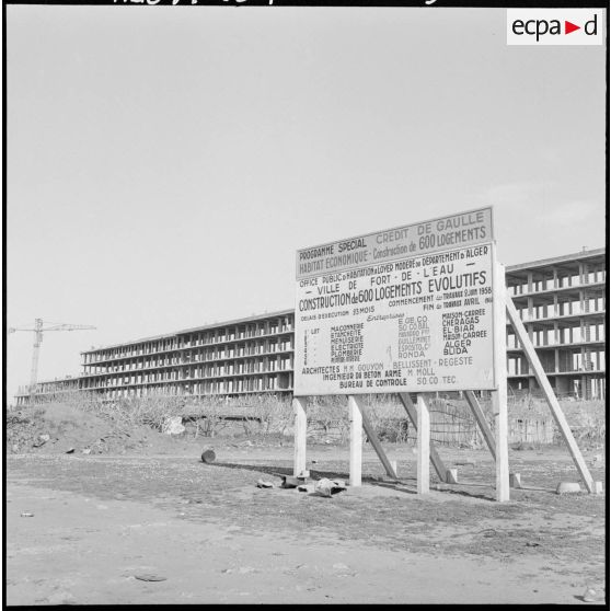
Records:
[[[573,437],[570,427],[566,422],[566,417],[562,411],[562,407],[560,406],[558,400],[556,399],[552,385],[547,380],[547,376],[545,374],[543,366],[539,360],[539,356],[537,355],[534,346],[532,345],[532,343],[528,337],[528,333],[524,328],[524,325],[522,324],[522,321],[520,320],[520,316],[518,315],[518,311],[516,310],[514,302],[511,301],[511,297],[509,295],[506,295],[505,301],[507,307],[507,314],[509,315],[509,321],[514,325],[514,328],[516,330],[516,334],[518,335],[518,338],[520,341],[520,344],[522,345],[527,359],[530,366],[532,367],[534,377],[537,378],[537,381],[539,382],[539,385],[541,387],[541,390],[545,395],[545,400],[547,401],[547,405],[550,405],[552,415],[554,416],[554,419],[556,420],[561,434],[566,445],[568,446],[568,450],[570,452],[570,457],[573,458],[573,462],[575,463],[577,471],[579,471],[579,474],[581,475],[581,479],[584,480],[584,483],[586,484],[588,492],[593,493],[595,483],[590,474],[590,471],[588,469],[588,465],[586,464],[581,451],[579,450],[579,447],[575,441],[575,437]]]

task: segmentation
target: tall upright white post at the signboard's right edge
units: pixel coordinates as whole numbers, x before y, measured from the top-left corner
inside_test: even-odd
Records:
[[[496,261],[496,256],[493,257]],[[505,314],[505,267],[493,263],[494,370],[497,390],[492,391],[496,436],[496,500],[509,500],[509,450],[507,448],[507,316]]]

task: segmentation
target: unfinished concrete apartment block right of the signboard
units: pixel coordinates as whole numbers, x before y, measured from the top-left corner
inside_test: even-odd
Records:
[[[506,284],[560,396],[606,395],[606,251],[584,251],[506,268]],[[510,389],[538,389],[508,325]]]

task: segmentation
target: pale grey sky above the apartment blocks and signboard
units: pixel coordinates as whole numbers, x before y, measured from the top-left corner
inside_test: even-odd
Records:
[[[493,206],[506,264],[602,247],[606,46],[506,11],[7,7],[7,321],[80,351],[293,307],[298,249]],[[7,335],[8,400],[33,333]]]

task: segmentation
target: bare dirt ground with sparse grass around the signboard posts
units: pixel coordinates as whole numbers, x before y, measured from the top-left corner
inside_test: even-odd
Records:
[[[484,450],[440,448],[460,483],[418,496],[414,449],[384,445],[395,483],[367,445],[364,485],[324,498],[278,487],[290,439],[154,436],[8,456],[8,604],[604,601],[606,493],[555,494],[578,481],[564,448],[511,450],[524,488],[499,504]],[[604,454],[585,451],[595,480]],[[347,447],[310,443],[308,461],[313,480],[348,477]]]

